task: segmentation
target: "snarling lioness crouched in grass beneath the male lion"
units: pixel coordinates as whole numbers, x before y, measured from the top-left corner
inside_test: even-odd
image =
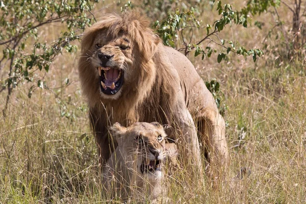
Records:
[[[156,199],[162,191],[165,193],[163,163],[166,156],[173,157],[173,152],[168,155],[166,145],[170,148],[174,144],[165,143],[166,133],[162,125],[136,122],[123,127],[115,123],[111,131],[118,146],[103,172],[106,189],[112,191],[112,197],[127,199],[137,193],[134,197],[143,195]]]

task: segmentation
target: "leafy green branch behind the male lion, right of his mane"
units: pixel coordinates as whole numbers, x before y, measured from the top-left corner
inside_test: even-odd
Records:
[[[195,17],[195,10],[191,8],[187,11],[180,11],[177,9],[174,14],[168,15],[162,22],[156,21],[154,27],[157,29],[157,33],[163,39],[165,45],[172,46],[179,51],[183,51],[185,55],[194,51],[194,56],[201,55],[202,59],[205,57],[211,57],[213,52],[217,52],[216,49],[210,46],[210,43],[215,43],[226,49],[226,53],[219,53],[217,61],[220,63],[225,59],[226,55],[233,52],[237,55],[252,56],[255,62],[258,57],[263,55],[260,49],[249,49],[247,50],[244,46],[238,46],[237,42],[232,42],[224,39],[220,39],[218,33],[220,33],[226,25],[241,24],[247,28],[247,15],[243,12],[234,11],[230,4],[222,6],[221,1],[217,2],[217,9],[220,18],[214,21],[213,24],[207,24],[205,27],[201,27],[201,21]],[[194,29],[206,29],[206,36],[197,42],[192,43]],[[189,42],[185,38],[184,32],[189,32]],[[181,36],[184,47],[177,48],[176,41]],[[213,40],[212,37],[217,38],[220,42]],[[202,48],[201,44],[208,40],[207,46]],[[228,46],[225,46],[228,45]]]

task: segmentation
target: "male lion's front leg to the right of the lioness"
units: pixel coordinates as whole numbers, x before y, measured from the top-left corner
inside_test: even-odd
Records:
[[[178,112],[176,117],[176,127],[179,130],[177,136],[177,147],[180,150],[180,157],[183,158],[184,166],[188,169],[194,169],[201,175],[202,163],[200,156],[199,142],[194,121],[187,109]]]

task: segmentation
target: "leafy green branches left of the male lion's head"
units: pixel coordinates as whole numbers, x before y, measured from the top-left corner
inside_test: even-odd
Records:
[[[0,92],[8,90],[4,115],[12,89],[19,83],[37,81],[37,87],[46,87],[43,77],[34,77],[33,73],[37,70],[48,72],[50,63],[63,49],[69,53],[75,51],[76,47],[71,42],[80,39],[85,27],[95,20],[90,12],[92,8],[93,2],[84,0],[1,1],[0,46],[3,56],[0,59],[0,73],[4,68],[8,70],[8,78],[0,88]],[[42,43],[38,29],[52,23],[65,24],[66,31],[57,40]],[[34,40],[34,43],[28,39]],[[31,54],[25,54],[29,51]]]

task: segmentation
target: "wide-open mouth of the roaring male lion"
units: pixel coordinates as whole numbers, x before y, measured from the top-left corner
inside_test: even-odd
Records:
[[[101,91],[108,95],[117,93],[123,84],[123,70],[110,67],[97,67],[97,69]]]

